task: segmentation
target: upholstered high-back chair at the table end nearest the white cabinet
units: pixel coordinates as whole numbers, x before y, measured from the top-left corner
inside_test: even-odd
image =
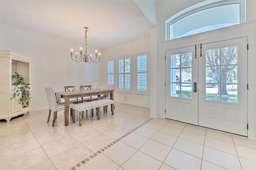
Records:
[[[46,97],[47,97],[48,106],[49,106],[49,115],[48,115],[47,122],[49,122],[51,117],[51,112],[53,111],[52,127],[54,127],[55,119],[57,117],[57,112],[61,110],[65,110],[65,103],[64,102],[57,103],[56,96],[54,94],[54,90],[52,87],[44,87],[44,89],[46,92]],[[69,108],[71,109],[71,111],[73,111],[72,108],[74,105],[75,105],[74,103],[69,103]]]

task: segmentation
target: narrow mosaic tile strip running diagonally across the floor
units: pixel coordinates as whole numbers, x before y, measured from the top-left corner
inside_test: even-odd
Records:
[[[97,152],[95,152],[94,154],[92,154],[91,156],[89,156],[88,158],[82,160],[81,162],[79,162],[78,164],[76,164],[75,166],[73,166],[72,168],[70,168],[69,170],[76,170],[77,168],[79,168],[80,166],[82,166],[83,164],[85,164],[86,162],[88,162],[89,160],[91,160],[92,158],[94,158],[95,156],[101,154],[103,151],[107,150],[108,148],[110,148],[111,146],[113,146],[114,144],[116,144],[117,142],[119,142],[120,140],[122,140],[123,138],[125,138],[126,136],[128,136],[129,134],[131,134],[132,132],[134,132],[135,130],[137,130],[138,128],[144,126],[146,123],[150,122],[151,120],[153,120],[153,118],[148,119],[146,122],[142,123],[141,125],[139,125],[138,127],[130,130],[129,132],[127,132],[126,134],[124,134],[123,136],[121,136],[120,138],[114,140],[113,142],[111,142],[110,144],[108,144],[107,146],[105,146],[104,148],[98,150]]]

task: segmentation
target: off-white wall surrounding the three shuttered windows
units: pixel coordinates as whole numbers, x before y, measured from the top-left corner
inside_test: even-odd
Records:
[[[104,57],[102,57],[102,81],[99,87],[106,87],[108,83],[107,79],[107,62],[109,59],[114,60],[114,83],[116,84],[114,100],[122,103],[129,103],[133,105],[140,105],[144,107],[150,107],[150,95],[136,94],[136,54],[150,51],[150,38],[137,40],[134,42],[125,43],[115,47],[111,47],[102,51]],[[118,57],[123,55],[132,55],[132,94],[118,92]],[[151,55],[149,53],[149,55]],[[126,99],[125,99],[126,96]]]

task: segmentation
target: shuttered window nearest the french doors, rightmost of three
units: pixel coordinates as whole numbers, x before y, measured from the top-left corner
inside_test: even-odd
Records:
[[[137,55],[137,92],[148,94],[148,54]]]

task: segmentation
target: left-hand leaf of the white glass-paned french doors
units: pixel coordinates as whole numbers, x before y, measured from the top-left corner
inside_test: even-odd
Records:
[[[166,51],[166,118],[198,125],[198,57],[193,47]],[[197,88],[195,88],[197,89]]]

